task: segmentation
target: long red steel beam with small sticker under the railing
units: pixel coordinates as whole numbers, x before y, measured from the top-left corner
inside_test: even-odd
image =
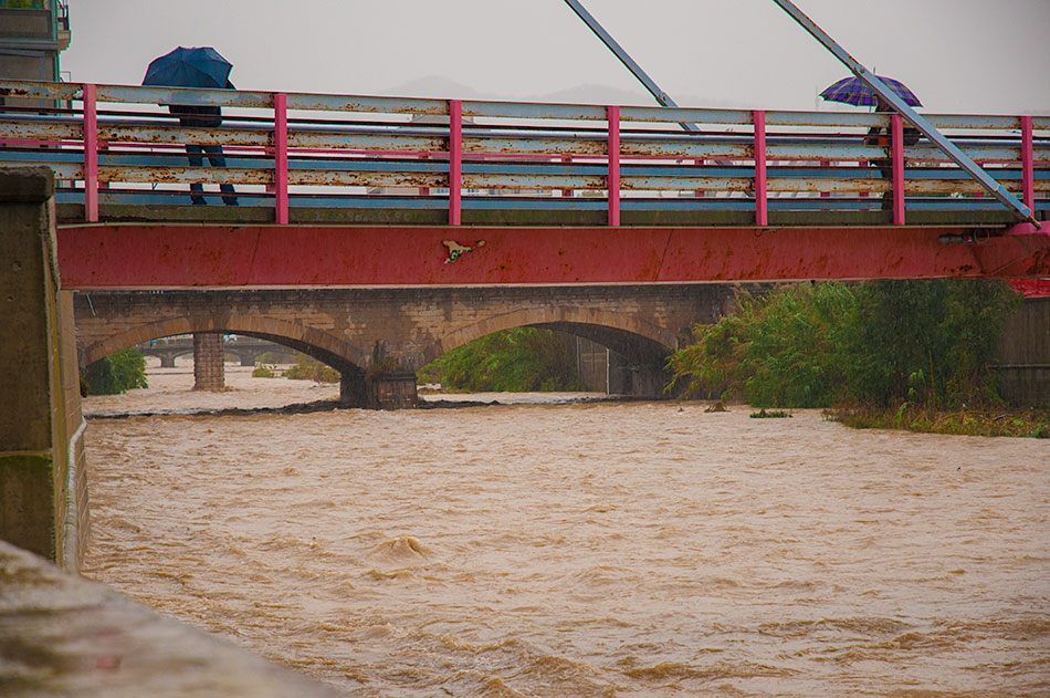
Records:
[[[60,228],[62,288],[687,283],[1050,277],[1050,236],[960,228]]]

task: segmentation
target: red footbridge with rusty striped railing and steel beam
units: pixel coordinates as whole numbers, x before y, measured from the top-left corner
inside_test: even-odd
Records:
[[[1047,223],[905,145],[896,115],[20,81],[0,96],[0,165],[61,183],[66,289],[1050,275]],[[224,122],[182,125],[168,104]],[[1050,117],[926,118],[1046,221]],[[190,183],[234,185],[239,206],[190,206]]]

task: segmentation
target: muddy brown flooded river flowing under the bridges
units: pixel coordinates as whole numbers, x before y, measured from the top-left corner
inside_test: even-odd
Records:
[[[93,419],[84,573],[350,696],[1050,696],[1050,441],[748,413]]]

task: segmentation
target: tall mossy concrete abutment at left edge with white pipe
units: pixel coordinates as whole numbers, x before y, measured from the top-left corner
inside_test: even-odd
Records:
[[[0,169],[0,539],[76,570],[88,532],[84,423],[53,192],[50,169]]]

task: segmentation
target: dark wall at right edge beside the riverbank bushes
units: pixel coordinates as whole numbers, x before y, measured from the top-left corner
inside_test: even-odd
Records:
[[[1050,298],[1027,299],[1006,323],[999,389],[1011,405],[1050,407]]]

